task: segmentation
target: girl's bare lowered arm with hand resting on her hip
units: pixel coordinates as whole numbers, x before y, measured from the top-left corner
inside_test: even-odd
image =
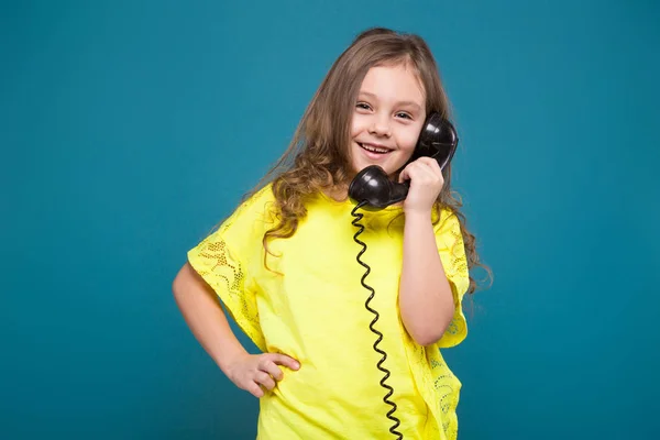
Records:
[[[227,377],[255,397],[273,389],[284,373],[277,365],[298,370],[296,360],[279,353],[250,354],[234,336],[216,293],[186,263],[172,289],[174,298],[193,334]]]

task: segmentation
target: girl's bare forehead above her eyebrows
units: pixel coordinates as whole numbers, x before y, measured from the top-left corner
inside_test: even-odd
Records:
[[[413,101],[424,107],[426,94],[417,69],[408,64],[374,66],[369,69],[360,91],[384,101]]]

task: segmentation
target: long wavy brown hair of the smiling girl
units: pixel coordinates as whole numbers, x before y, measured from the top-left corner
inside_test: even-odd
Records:
[[[260,182],[254,194],[268,183],[273,184],[278,223],[268,230],[263,244],[272,239],[292,237],[298,221],[307,215],[305,200],[319,191],[340,193],[348,188],[354,175],[350,163],[350,129],[353,108],[362,80],[370,68],[382,65],[411,66],[426,92],[426,111],[439,112],[450,119],[450,105],[442,88],[438,67],[426,42],[414,34],[402,34],[388,29],[367,30],[339,56],[314,95],[294,133],[294,138],[277,163]],[[475,238],[466,228],[460,208],[460,196],[451,190],[451,164],[443,169],[444,185],[436,204],[440,218],[442,207],[450,208],[461,226],[469,270],[480,263]],[[476,282],[470,275],[473,293]]]

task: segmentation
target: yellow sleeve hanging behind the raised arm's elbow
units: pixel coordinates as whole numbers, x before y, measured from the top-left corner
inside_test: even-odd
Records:
[[[440,348],[449,348],[458,345],[468,336],[468,321],[463,315],[462,301],[470,287],[470,275],[458,217],[451,210],[443,209],[435,231],[438,252],[454,300],[453,318],[438,341]]]

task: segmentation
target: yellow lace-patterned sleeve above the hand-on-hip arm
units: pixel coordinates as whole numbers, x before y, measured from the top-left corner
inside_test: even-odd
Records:
[[[257,288],[253,280],[263,257],[263,234],[270,227],[266,215],[268,188],[243,202],[217,231],[188,251],[190,266],[216,292],[231,318],[262,351],[265,341],[260,326]]]

